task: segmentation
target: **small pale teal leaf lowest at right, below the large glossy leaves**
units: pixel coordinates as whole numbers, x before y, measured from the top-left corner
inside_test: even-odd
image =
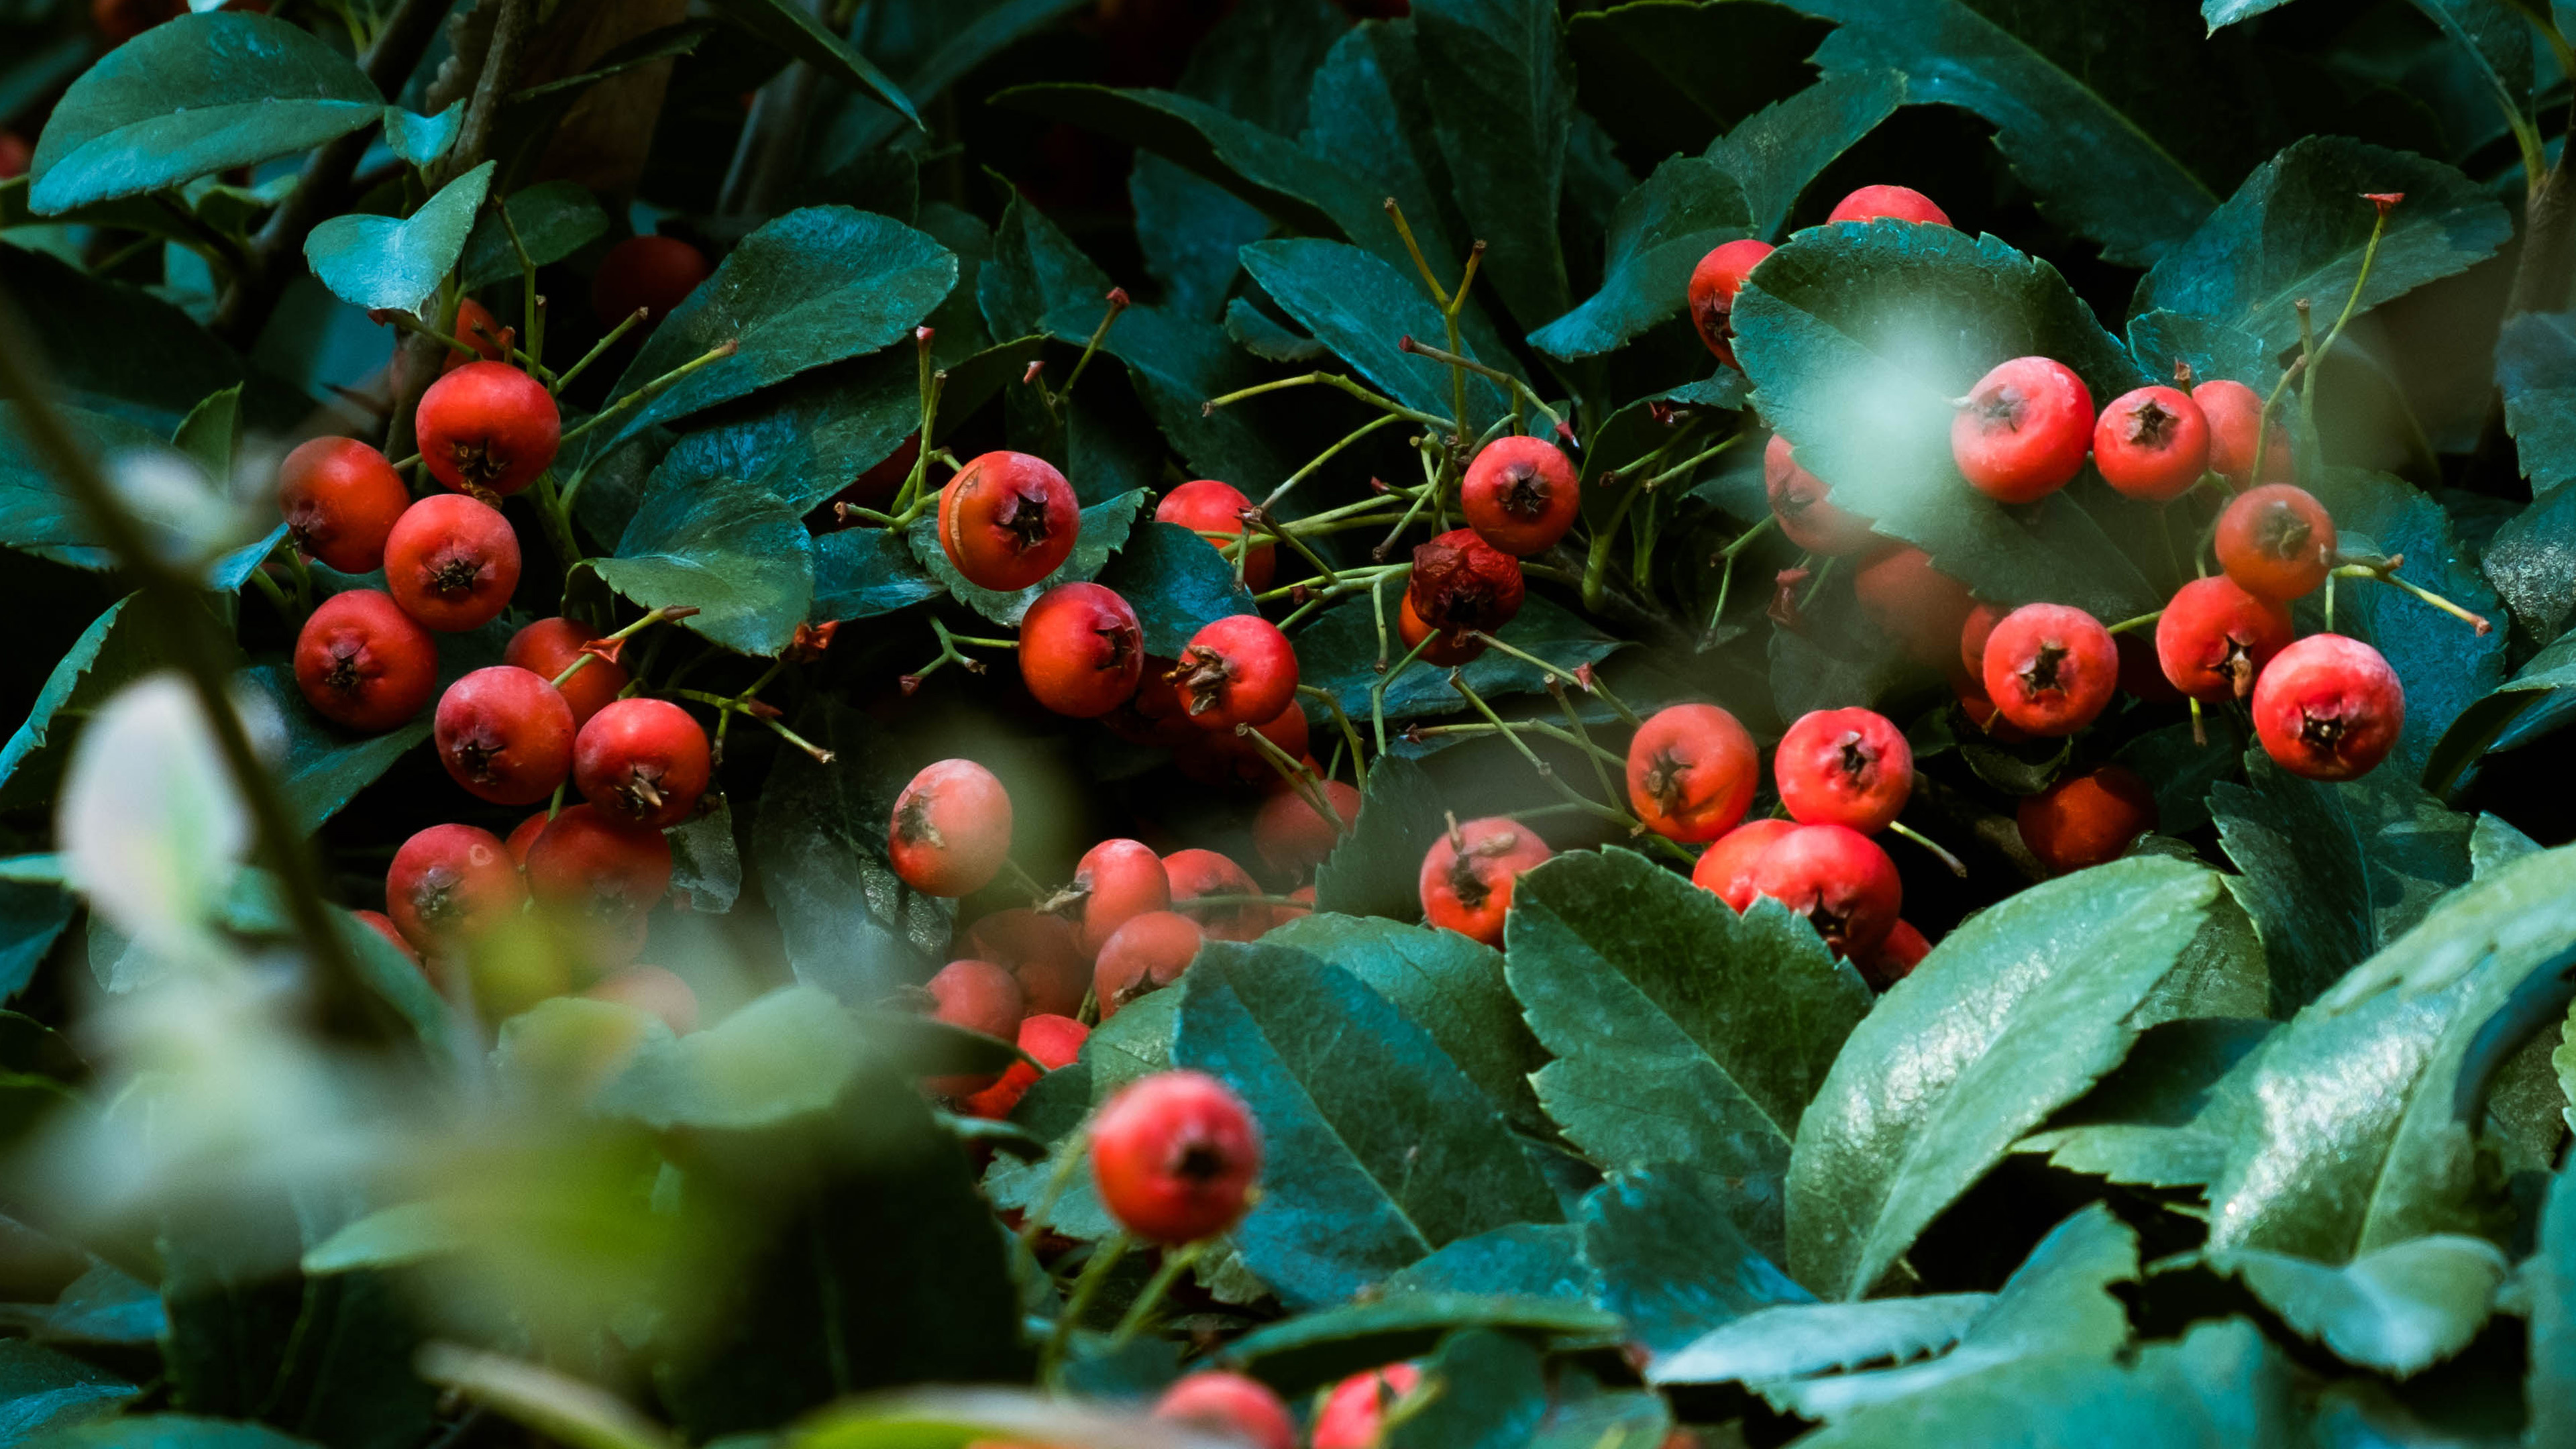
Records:
[[[2506,1274],[2494,1243],[2439,1232],[2342,1269],[2262,1248],[2218,1250],[2208,1266],[2244,1281],[2300,1338],[2401,1379],[2468,1348]]]

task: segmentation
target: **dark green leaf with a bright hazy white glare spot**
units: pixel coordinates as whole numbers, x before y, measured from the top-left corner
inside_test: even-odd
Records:
[[[1947,227],[1821,227],[1762,260],[1734,325],[1754,407],[1880,534],[1996,603],[2161,603],[2066,492],[2004,508],[1950,459],[1950,400],[2007,358],[2058,358],[2102,400],[2146,382],[2048,263]]]

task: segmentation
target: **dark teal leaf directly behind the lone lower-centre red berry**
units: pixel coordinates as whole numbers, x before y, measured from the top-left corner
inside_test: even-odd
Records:
[[[1303,951],[1208,941],[1180,985],[1172,1065],[1221,1078],[1262,1124],[1265,1196],[1234,1240],[1291,1307],[1458,1238],[1561,1220],[1502,1109],[1440,1044]]]

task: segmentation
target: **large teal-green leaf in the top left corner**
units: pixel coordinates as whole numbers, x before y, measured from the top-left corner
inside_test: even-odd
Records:
[[[116,46],[36,139],[41,217],[304,152],[371,126],[384,95],[348,57],[268,15],[180,15]]]

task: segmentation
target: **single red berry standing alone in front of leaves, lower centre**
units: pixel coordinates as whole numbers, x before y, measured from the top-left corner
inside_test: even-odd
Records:
[[[1262,1129],[1206,1073],[1154,1073],[1092,1119],[1092,1189],[1121,1227],[1175,1248],[1216,1238],[1252,1209]]]

